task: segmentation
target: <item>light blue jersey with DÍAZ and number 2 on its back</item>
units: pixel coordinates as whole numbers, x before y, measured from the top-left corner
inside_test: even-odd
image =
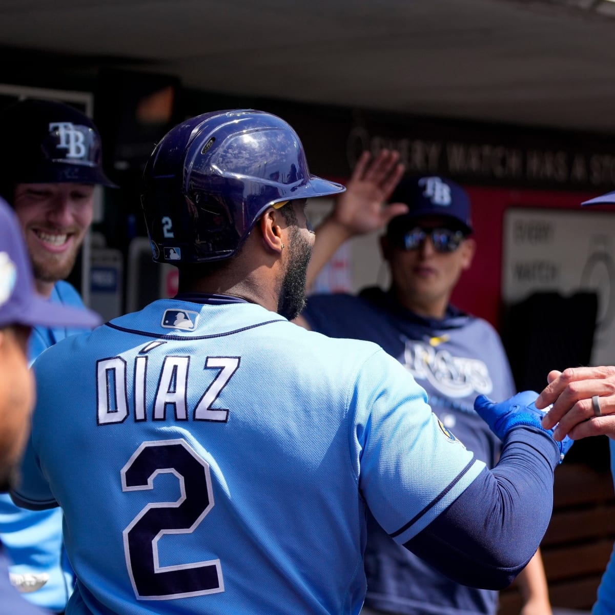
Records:
[[[17,496],[64,510],[67,615],[359,613],[366,503],[405,543],[485,464],[375,344],[189,299],[34,365]]]

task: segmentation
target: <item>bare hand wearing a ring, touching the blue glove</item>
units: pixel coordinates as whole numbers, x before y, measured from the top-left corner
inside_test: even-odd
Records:
[[[555,427],[555,440],[581,440],[603,434],[615,439],[615,367],[554,370],[547,376],[547,382],[536,407],[552,405],[542,419],[542,426]],[[593,409],[594,395],[600,398],[601,416]]]

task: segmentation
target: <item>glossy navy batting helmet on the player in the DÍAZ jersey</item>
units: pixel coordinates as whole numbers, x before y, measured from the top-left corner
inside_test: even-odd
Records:
[[[204,113],[149,157],[141,204],[158,263],[203,263],[239,250],[268,207],[344,186],[311,175],[284,120],[252,109]]]

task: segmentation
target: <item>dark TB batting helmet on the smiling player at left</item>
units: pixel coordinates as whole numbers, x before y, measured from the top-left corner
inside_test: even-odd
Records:
[[[0,195],[11,202],[18,183],[114,186],[101,167],[100,135],[74,107],[51,100],[14,103],[0,113]]]

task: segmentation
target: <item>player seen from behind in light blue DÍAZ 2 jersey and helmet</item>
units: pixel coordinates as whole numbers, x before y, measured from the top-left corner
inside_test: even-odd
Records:
[[[144,180],[153,257],[179,257],[178,295],[34,363],[14,497],[64,511],[67,615],[356,614],[367,506],[456,581],[509,584],[569,445],[539,426],[536,394],[478,400],[504,441],[488,470],[376,344],[288,321],[314,242],[306,199],[343,187],[309,173],[279,117],[193,117]]]

